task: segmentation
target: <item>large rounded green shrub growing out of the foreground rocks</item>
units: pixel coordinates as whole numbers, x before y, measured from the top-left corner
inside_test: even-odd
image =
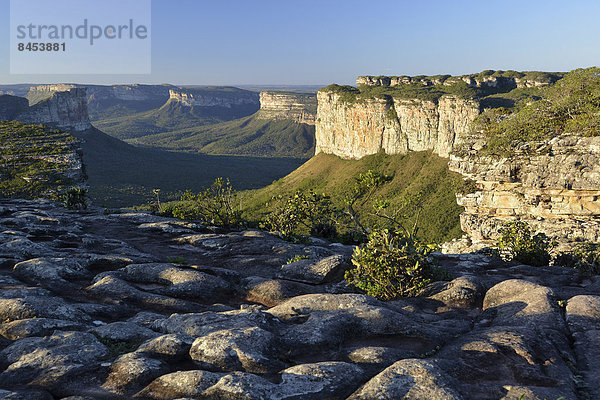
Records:
[[[354,249],[355,268],[345,274],[351,285],[381,300],[414,296],[440,271],[429,257],[434,247],[403,230],[375,230],[367,243]]]

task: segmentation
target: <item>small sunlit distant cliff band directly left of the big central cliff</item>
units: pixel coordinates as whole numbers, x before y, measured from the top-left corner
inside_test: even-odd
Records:
[[[261,92],[258,118],[293,120],[315,125],[317,97],[313,94],[287,92]]]

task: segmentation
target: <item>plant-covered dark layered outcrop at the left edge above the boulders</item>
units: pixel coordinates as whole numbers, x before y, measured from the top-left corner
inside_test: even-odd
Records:
[[[76,142],[41,125],[0,122],[0,197],[53,196],[76,183],[69,176]]]

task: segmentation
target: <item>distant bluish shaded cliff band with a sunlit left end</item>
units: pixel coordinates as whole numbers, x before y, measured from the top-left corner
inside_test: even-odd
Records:
[[[233,88],[232,88],[233,89]],[[171,89],[169,100],[186,107],[224,107],[259,106],[258,93],[235,89],[232,91],[205,89]]]

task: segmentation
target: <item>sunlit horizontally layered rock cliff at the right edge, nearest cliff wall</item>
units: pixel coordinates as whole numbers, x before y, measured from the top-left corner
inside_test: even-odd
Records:
[[[485,244],[497,239],[504,222],[521,218],[561,243],[599,242],[600,138],[561,136],[530,150],[508,159],[482,157],[473,149],[451,156],[450,169],[480,189],[457,195],[465,207],[463,231]]]

